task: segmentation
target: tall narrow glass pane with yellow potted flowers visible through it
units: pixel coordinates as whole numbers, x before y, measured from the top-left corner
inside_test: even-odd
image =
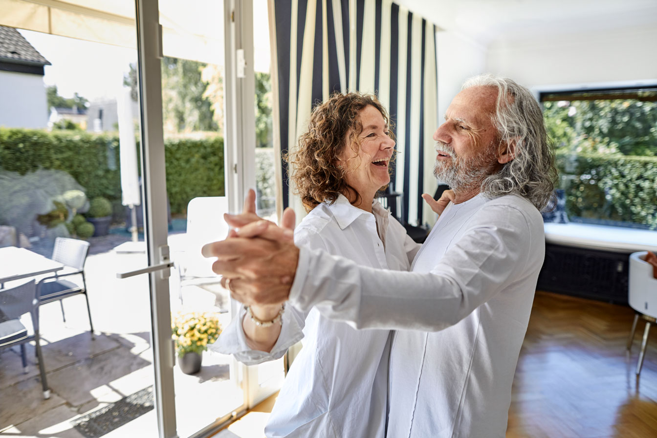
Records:
[[[223,22],[222,1],[160,1],[168,241],[175,262],[170,278],[177,338],[173,374],[181,437],[227,418],[244,403],[233,358],[205,349],[218,333],[213,321],[227,326],[232,317],[229,294],[212,272],[212,260],[200,253],[203,244],[228,232],[222,217],[228,211]],[[194,368],[197,353],[200,368]]]

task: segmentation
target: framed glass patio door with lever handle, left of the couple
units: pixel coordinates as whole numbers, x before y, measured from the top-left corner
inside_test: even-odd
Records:
[[[137,0],[148,264],[174,264],[150,273],[161,437],[212,433],[283,380],[281,361],[246,367],[212,351],[186,374],[171,343],[172,320],[227,326],[237,311],[200,245],[225,236],[222,213],[256,186],[252,20],[251,1]]]

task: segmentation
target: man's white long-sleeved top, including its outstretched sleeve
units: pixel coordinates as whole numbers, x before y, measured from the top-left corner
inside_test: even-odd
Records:
[[[543,221],[528,200],[480,194],[447,206],[410,273],[302,248],[290,303],[399,330],[388,437],[504,437],[544,255]]]

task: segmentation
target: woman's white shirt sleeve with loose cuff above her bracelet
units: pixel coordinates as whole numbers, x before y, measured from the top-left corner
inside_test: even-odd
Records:
[[[299,228],[294,232],[294,243],[301,248],[325,251],[326,246],[317,232],[306,228]],[[282,315],[283,325],[281,334],[271,351],[254,350],[246,343],[246,334],[242,327],[242,320],[246,309],[242,305],[236,318],[225,328],[217,341],[208,348],[217,353],[233,355],[235,359],[246,365],[257,365],[262,362],[274,361],[283,357],[289,347],[304,338],[304,326],[308,311],[302,311],[291,305],[286,305]]]

